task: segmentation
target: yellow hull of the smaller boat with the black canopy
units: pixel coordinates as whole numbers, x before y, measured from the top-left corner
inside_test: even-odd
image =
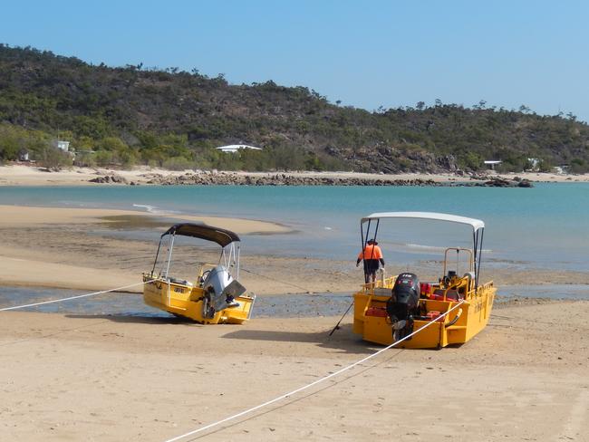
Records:
[[[252,311],[256,296],[247,293],[236,298],[238,307],[231,307],[208,318],[203,313],[204,291],[189,283],[171,283],[166,279],[151,280],[149,274],[143,275],[143,301],[156,309],[182,316],[203,324],[246,322]]]

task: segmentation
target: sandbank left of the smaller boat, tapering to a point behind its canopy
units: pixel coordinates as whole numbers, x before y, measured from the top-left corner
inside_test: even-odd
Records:
[[[204,222],[238,235],[288,235],[277,223],[219,216],[153,215],[130,210],[0,205],[0,284],[104,290],[139,283],[159,235],[179,222]],[[92,235],[97,227],[147,223],[152,241]],[[217,251],[203,255],[218,259]],[[148,269],[149,267],[149,269]],[[137,289],[130,292],[141,291]]]

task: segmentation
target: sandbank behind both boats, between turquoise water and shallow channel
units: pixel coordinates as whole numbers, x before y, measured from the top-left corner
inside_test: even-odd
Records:
[[[141,273],[153,265],[159,235],[181,221],[205,221],[226,227],[239,235],[290,235],[289,226],[248,219],[161,216],[129,210],[70,207],[0,206],[0,284],[4,286],[43,286],[79,290],[104,290],[139,283]],[[140,228],[145,238],[128,238],[104,233],[110,229]],[[96,235],[96,232],[99,235]],[[217,262],[217,251],[192,252],[179,272],[194,276],[194,259]],[[350,293],[362,280],[362,269],[345,259],[310,256],[250,254],[242,251],[240,280],[256,294]],[[189,262],[193,262],[190,264]],[[192,265],[192,267],[190,267]],[[388,273],[402,271],[401,263],[391,262]],[[310,271],[312,270],[312,271]],[[437,264],[420,265],[420,278],[435,281]],[[562,271],[557,274],[541,268],[489,268],[481,274],[496,285],[589,284],[589,273]],[[131,292],[140,291],[140,285]]]

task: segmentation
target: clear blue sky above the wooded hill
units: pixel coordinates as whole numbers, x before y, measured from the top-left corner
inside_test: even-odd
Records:
[[[0,0],[0,43],[304,85],[369,111],[436,99],[589,120],[589,2]]]

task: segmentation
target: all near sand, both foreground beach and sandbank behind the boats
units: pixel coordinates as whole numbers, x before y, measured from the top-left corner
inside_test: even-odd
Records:
[[[113,223],[163,231],[171,222],[204,220],[242,235],[289,229],[194,216],[162,222],[103,209],[3,206],[0,213],[0,284],[88,291],[138,283],[149,270],[154,242],[97,233]],[[246,251],[242,259],[248,272],[241,280],[260,296],[350,293],[362,277],[350,261]],[[582,272],[488,276],[497,284],[589,283]],[[198,440],[587,440],[588,315],[589,302],[498,305],[487,329],[461,348],[387,351]],[[182,435],[379,349],[352,334],[350,316],[328,338],[338,319],[200,326],[164,318],[0,312],[0,440]]]

